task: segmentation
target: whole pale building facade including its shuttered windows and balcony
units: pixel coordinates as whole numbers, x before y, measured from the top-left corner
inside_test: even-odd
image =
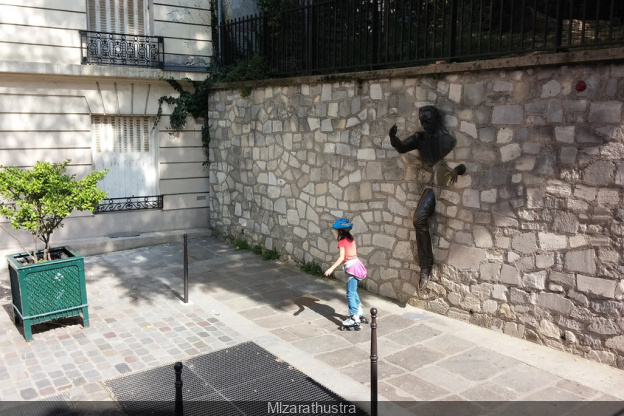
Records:
[[[172,134],[171,108],[156,115],[177,95],[163,78],[203,80],[212,55],[209,0],[0,0],[0,165],[109,169],[110,199],[55,241],[208,225],[201,124]]]

